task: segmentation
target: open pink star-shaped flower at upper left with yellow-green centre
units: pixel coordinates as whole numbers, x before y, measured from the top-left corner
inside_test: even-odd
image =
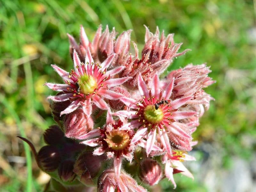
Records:
[[[65,84],[45,83],[54,91],[63,91],[64,94],[49,96],[48,99],[54,102],[63,102],[71,100],[70,105],[60,113],[71,113],[79,106],[83,107],[84,113],[91,114],[91,101],[98,108],[106,110],[108,104],[103,98],[117,100],[122,97],[122,94],[109,90],[111,87],[123,84],[130,77],[111,78],[115,74],[123,70],[124,67],[117,67],[107,71],[108,66],[113,60],[115,54],[110,55],[103,63],[94,63],[92,55],[87,49],[85,64],[80,61],[76,51],[74,51],[74,69],[70,73],[52,65],[55,71],[62,77]]]

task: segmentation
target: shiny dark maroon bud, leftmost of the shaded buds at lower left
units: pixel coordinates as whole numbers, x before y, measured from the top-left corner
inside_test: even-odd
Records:
[[[38,152],[38,164],[45,172],[55,171],[60,164],[60,160],[60,152],[53,146],[44,146]]]

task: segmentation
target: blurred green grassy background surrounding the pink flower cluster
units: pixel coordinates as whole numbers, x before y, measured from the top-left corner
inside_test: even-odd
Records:
[[[255,3],[0,0],[0,191],[42,191],[49,179],[34,158],[26,159],[16,136],[26,136],[37,150],[43,146],[42,133],[54,124],[46,100],[53,92],[43,84],[61,82],[50,64],[72,68],[66,33],[79,40],[80,24],[91,40],[100,24],[119,33],[131,28],[140,51],[143,24],[152,32],[158,26],[165,35],[175,33],[175,42],[183,42],[180,51],[192,49],[168,71],[189,63],[211,66],[210,76],[217,83],[206,92],[216,101],[193,135],[198,145],[191,154],[197,162],[187,164],[195,180],[176,174],[176,191],[256,190]],[[151,190],[172,191],[172,185],[163,180]]]

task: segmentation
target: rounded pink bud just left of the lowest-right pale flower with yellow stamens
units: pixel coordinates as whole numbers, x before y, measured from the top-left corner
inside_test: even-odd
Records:
[[[147,158],[140,162],[139,177],[144,183],[155,185],[162,177],[161,166],[155,160]]]

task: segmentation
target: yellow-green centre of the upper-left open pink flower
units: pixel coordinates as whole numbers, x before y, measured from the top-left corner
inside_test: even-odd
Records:
[[[78,79],[78,84],[80,86],[80,92],[83,94],[93,93],[94,89],[97,87],[97,81],[94,77],[86,74]]]

